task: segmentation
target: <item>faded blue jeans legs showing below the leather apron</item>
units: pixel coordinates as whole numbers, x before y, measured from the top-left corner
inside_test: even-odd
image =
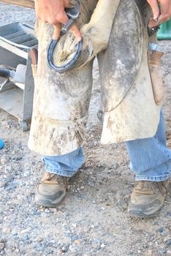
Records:
[[[153,138],[126,141],[130,169],[136,180],[164,181],[171,174],[171,150],[166,146],[164,116],[161,111],[159,127]],[[46,170],[60,176],[73,176],[85,162],[82,148],[56,157],[43,157]]]

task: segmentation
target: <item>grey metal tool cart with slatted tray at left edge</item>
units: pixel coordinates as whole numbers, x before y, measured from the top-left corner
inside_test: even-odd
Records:
[[[0,68],[13,74],[13,79],[0,78],[0,108],[17,117],[23,130],[29,128],[34,95],[29,50],[37,44],[32,26],[0,27]]]

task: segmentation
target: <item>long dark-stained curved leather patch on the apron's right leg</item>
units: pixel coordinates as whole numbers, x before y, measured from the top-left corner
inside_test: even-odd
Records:
[[[142,61],[142,36],[142,17],[137,4],[121,1],[110,35],[110,47],[100,65],[101,83],[105,84],[102,97],[105,111],[116,108],[134,84]]]

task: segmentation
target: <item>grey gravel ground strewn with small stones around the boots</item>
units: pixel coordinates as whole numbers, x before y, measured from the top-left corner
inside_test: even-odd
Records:
[[[14,21],[34,23],[34,11],[0,4],[1,25]],[[171,42],[161,42],[167,125],[171,146]],[[101,146],[99,75],[94,65],[84,151],[86,165],[72,181],[58,208],[39,208],[34,190],[43,172],[41,157],[27,148],[28,132],[18,120],[0,109],[0,255],[129,256],[171,255],[171,199],[159,217],[135,219],[126,211],[134,173],[123,144]]]

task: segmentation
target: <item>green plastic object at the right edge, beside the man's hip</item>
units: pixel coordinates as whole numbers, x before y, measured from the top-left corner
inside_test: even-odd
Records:
[[[159,31],[157,32],[157,39],[170,40],[171,39],[171,19],[161,24]]]

